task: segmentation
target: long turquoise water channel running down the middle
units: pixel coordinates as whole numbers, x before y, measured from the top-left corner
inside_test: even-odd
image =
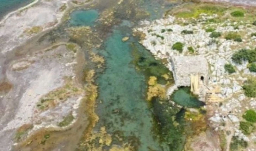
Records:
[[[106,126],[110,134],[123,136],[124,142],[138,147],[136,150],[167,150],[166,144],[159,144],[153,137],[152,112],[145,100],[146,81],[139,74],[132,62],[129,42],[122,42],[124,36],[129,35],[122,27],[116,27],[105,42],[104,55],[106,70],[100,75],[99,103],[97,115],[100,119],[97,128]],[[116,144],[122,144],[114,141]]]

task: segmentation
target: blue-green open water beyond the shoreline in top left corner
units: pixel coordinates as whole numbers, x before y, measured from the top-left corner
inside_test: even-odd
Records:
[[[34,0],[0,0],[0,19],[3,18],[8,12],[28,5],[32,1]]]

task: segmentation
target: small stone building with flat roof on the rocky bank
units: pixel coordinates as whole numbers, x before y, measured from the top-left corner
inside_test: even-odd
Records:
[[[171,57],[175,85],[190,86],[191,92],[205,98],[208,84],[208,62],[203,56]]]

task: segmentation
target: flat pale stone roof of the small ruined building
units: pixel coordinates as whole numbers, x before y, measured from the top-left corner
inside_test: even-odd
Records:
[[[190,75],[199,74],[208,78],[208,62],[203,56],[171,57],[173,77],[178,86],[190,86]]]

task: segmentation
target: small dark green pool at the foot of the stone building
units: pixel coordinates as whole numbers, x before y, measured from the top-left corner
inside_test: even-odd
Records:
[[[205,105],[204,102],[199,101],[198,98],[190,92],[190,87],[181,87],[172,94],[172,100],[178,105],[185,107],[198,108]]]

